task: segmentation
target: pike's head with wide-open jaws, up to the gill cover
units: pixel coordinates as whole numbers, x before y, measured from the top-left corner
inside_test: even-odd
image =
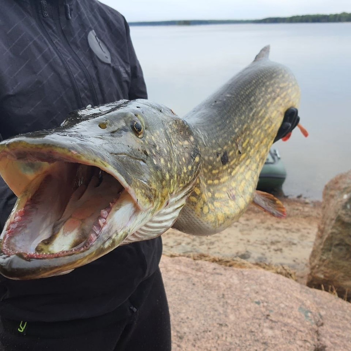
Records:
[[[2,141],[0,173],[18,200],[0,237],[0,273],[63,274],[159,236],[176,220],[164,213],[179,213],[190,195],[199,162],[187,123],[141,99],[74,111],[58,128]],[[145,229],[155,217],[163,220]]]

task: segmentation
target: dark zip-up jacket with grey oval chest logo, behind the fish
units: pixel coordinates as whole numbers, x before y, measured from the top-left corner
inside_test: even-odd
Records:
[[[0,133],[53,128],[68,112],[147,98],[124,17],[95,0],[2,0]],[[6,15],[5,15],[6,14]],[[1,180],[0,224],[15,197]],[[0,314],[14,320],[86,318],[117,308],[158,267],[160,238],[118,247],[64,276],[0,278]]]

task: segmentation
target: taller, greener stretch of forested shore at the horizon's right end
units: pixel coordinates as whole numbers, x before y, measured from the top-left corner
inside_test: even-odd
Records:
[[[253,20],[254,23],[315,23],[315,22],[351,22],[351,13],[342,12],[330,15],[301,15],[291,17],[269,17]]]

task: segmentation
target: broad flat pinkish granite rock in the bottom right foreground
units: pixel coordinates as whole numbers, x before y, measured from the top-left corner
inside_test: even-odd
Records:
[[[278,274],[190,258],[160,263],[173,351],[350,351],[351,304]]]

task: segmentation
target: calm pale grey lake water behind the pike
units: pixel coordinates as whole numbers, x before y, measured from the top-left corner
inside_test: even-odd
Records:
[[[351,23],[131,27],[149,99],[182,116],[271,45],[270,58],[299,82],[301,124],[274,144],[287,195],[321,199],[325,183],[351,168]]]

